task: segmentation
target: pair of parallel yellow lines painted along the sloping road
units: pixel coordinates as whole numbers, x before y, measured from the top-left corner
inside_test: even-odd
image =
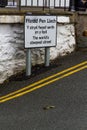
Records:
[[[22,95],[25,95],[25,94],[27,94],[29,92],[32,92],[32,91],[34,91],[36,89],[39,89],[41,87],[44,87],[46,85],[49,85],[49,84],[51,84],[51,83],[53,83],[53,82],[55,82],[57,80],[60,80],[60,79],[62,79],[64,77],[67,77],[67,76],[70,76],[70,75],[72,75],[72,74],[74,74],[76,72],[79,72],[79,71],[81,71],[83,69],[87,69],[87,61],[84,61],[84,62],[82,62],[80,64],[77,64],[77,65],[75,65],[73,67],[65,69],[65,70],[63,70],[61,72],[58,72],[58,73],[56,73],[54,75],[51,75],[51,76],[49,76],[47,78],[39,80],[39,81],[37,81],[37,82],[35,82],[33,84],[30,84],[27,87],[24,87],[22,89],[19,89],[17,91],[9,93],[9,94],[7,94],[5,96],[2,96],[2,97],[0,97],[0,103],[6,102],[8,100],[11,100],[11,99],[14,99],[14,98],[17,98],[17,97],[20,97]]]

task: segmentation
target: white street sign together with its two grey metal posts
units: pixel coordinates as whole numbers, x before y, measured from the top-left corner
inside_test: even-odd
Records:
[[[50,47],[57,43],[57,17],[25,16],[26,75],[31,75],[31,48],[45,48],[45,66],[49,66]]]

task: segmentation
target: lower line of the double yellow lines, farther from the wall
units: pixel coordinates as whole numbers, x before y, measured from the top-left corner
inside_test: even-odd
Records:
[[[72,74],[74,74],[74,73],[76,73],[76,72],[79,72],[79,71],[83,70],[83,69],[87,69],[87,65],[86,65],[86,66],[82,66],[82,67],[80,67],[80,68],[77,68],[76,70],[73,70],[73,71],[71,71],[71,72],[68,72],[68,73],[66,73],[66,74],[64,74],[64,75],[62,75],[62,76],[60,76],[60,77],[58,77],[58,78],[54,78],[53,80],[47,81],[47,82],[45,82],[45,83],[43,83],[43,84],[40,84],[40,85],[38,85],[38,86],[36,86],[36,87],[34,87],[34,88],[29,88],[29,90],[26,90],[26,91],[24,91],[24,92],[20,92],[20,93],[17,93],[17,94],[15,94],[15,95],[9,96],[9,97],[7,97],[7,98],[0,99],[0,103],[6,102],[6,101],[8,101],[8,100],[11,100],[11,99],[14,99],[14,98],[17,98],[17,97],[20,97],[20,96],[23,96],[23,95],[25,95],[25,94],[27,94],[27,93],[29,93],[29,92],[32,92],[32,91],[34,91],[34,90],[36,90],[36,89],[39,89],[39,88],[42,88],[43,86],[49,85],[49,84],[51,84],[51,83],[53,83],[53,82],[55,82],[55,81],[58,81],[58,80],[60,80],[60,79],[62,79],[62,78],[65,78],[65,77],[67,77],[67,76],[70,76],[70,75],[72,75]]]

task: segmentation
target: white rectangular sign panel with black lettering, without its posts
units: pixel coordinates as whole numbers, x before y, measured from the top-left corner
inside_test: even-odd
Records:
[[[56,46],[56,16],[25,16],[25,48]]]

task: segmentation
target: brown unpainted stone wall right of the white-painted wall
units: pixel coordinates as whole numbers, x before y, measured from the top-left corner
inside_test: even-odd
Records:
[[[87,30],[87,12],[79,12],[76,17],[76,38],[78,47],[87,47],[87,37],[83,36]]]

